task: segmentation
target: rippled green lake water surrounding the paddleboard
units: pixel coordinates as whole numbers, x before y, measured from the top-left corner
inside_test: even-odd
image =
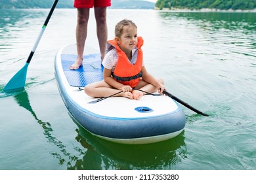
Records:
[[[26,63],[49,10],[0,11],[0,91]],[[108,38],[123,18],[144,38],[148,72],[182,107],[181,135],[144,145],[93,137],[68,113],[54,56],[75,43],[75,9],[56,9],[28,67],[26,90],[0,93],[0,169],[256,169],[256,13],[108,10]],[[87,45],[98,48],[93,11]]]

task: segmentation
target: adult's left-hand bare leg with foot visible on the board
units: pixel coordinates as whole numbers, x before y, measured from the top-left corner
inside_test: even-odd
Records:
[[[87,25],[89,20],[89,8],[77,8],[77,25],[75,30],[77,43],[77,60],[70,66],[70,69],[78,69],[83,63],[83,50],[87,37]]]

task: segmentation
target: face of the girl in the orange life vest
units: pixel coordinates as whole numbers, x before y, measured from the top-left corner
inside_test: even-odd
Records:
[[[116,37],[116,39],[121,50],[124,52],[133,50],[137,46],[138,42],[137,28],[133,25],[124,26],[121,37]]]

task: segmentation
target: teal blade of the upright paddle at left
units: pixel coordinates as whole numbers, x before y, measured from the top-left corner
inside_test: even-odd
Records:
[[[14,75],[11,80],[7,83],[5,88],[3,88],[3,92],[14,92],[17,90],[23,90],[26,82],[26,75],[28,71],[28,64],[26,63],[16,75]]]

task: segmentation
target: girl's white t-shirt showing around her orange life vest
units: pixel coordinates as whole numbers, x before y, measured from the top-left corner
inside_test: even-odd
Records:
[[[131,55],[132,55],[132,59],[130,60],[131,63],[135,64],[136,62],[136,57],[133,57],[135,54],[137,54],[137,50],[138,48],[135,48],[132,50]],[[116,63],[117,63],[117,52],[116,52],[116,48],[113,48],[112,50],[110,50],[106,56],[104,57],[104,59],[102,60],[102,65],[106,68],[106,69],[110,69],[112,72],[114,72],[115,67],[116,67]],[[142,61],[142,67],[144,66],[144,61]]]

